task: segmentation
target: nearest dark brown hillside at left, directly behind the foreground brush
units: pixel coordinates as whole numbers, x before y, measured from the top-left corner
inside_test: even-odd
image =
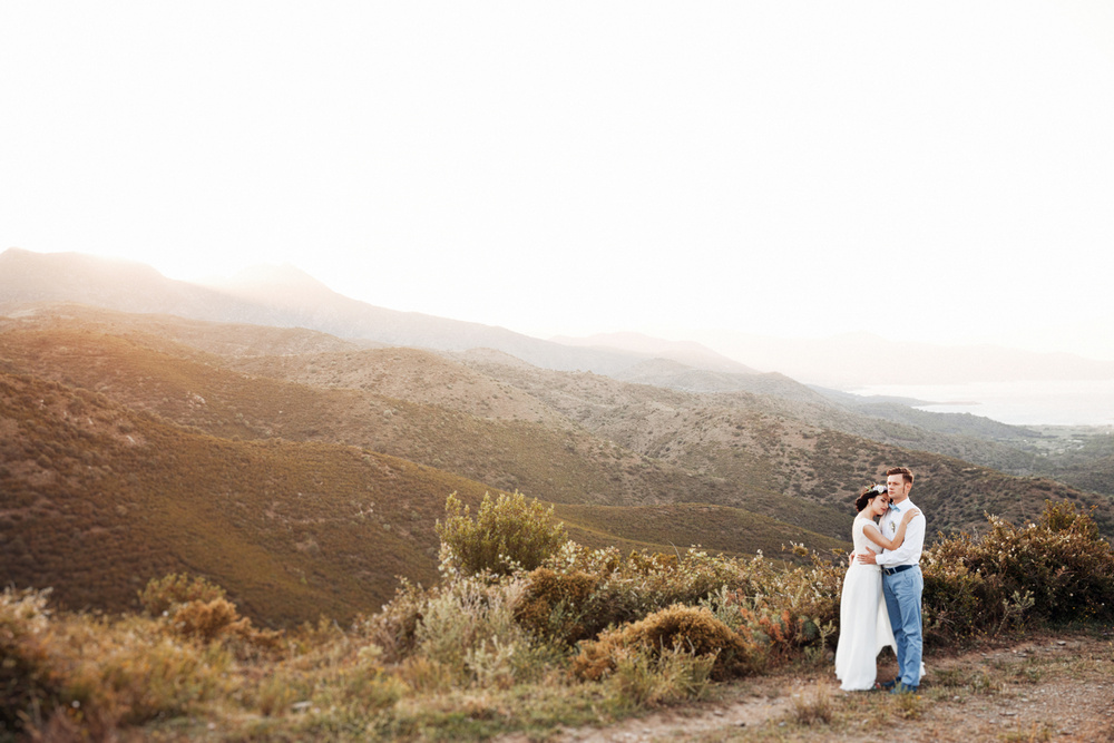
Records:
[[[434,577],[444,493],[483,486],[335,444],[233,442],[106,397],[0,375],[6,584],[123,609],[189,570],[274,623],[375,610]]]

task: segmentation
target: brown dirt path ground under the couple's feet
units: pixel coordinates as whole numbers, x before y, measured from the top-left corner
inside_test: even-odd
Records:
[[[916,695],[843,692],[830,671],[786,671],[713,690],[711,700],[559,743],[632,741],[1114,742],[1114,636],[1028,636],[926,657]],[[879,664],[890,678],[897,664]]]

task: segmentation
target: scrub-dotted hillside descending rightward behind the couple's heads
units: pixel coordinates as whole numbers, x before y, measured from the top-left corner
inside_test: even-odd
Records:
[[[867,419],[854,420],[848,411],[811,414],[817,409],[760,394],[694,394],[595,374],[556,374],[491,356],[460,358],[631,451],[710,481],[731,482],[735,492],[746,493],[747,510],[790,522],[800,517],[800,507],[785,497],[847,512],[864,483],[903,465],[918,475],[913,499],[931,515],[930,531],[976,531],[984,528],[986,512],[1015,522],[1034,519],[1046,499],[1069,499],[1094,507],[1103,532],[1114,534],[1107,496],[934,453],[919,446],[934,436],[922,429],[910,428],[906,446],[897,447],[831,426],[838,416],[866,424]],[[726,505],[733,502],[739,501]],[[843,525],[838,520],[831,526]]]

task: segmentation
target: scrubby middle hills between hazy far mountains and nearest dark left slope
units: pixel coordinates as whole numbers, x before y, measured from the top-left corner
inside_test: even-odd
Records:
[[[162,332],[169,320],[158,322]],[[987,510],[1033,518],[1048,497],[1095,506],[1104,530],[1114,521],[1108,498],[971,467],[920,450],[917,439],[898,448],[851,436],[823,424],[851,413],[802,413],[814,409],[783,398],[678,392],[541,370],[494,352],[449,360],[351,346],[291,354],[271,343],[278,355],[206,354],[147,332],[135,317],[123,335],[101,316],[39,316],[4,327],[6,355],[20,360],[18,370],[179,424],[358,446],[553,502],[716,504],[843,539],[856,492],[902,462],[930,476],[917,492],[932,508],[934,531],[981,528]],[[225,332],[233,331],[216,325],[211,334]],[[296,351],[309,343],[294,340]],[[78,348],[84,358],[66,358]]]

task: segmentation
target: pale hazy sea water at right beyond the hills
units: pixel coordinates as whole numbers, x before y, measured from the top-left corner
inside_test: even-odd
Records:
[[[878,384],[861,395],[912,398],[937,413],[971,413],[1013,426],[1114,426],[1114,380]]]

